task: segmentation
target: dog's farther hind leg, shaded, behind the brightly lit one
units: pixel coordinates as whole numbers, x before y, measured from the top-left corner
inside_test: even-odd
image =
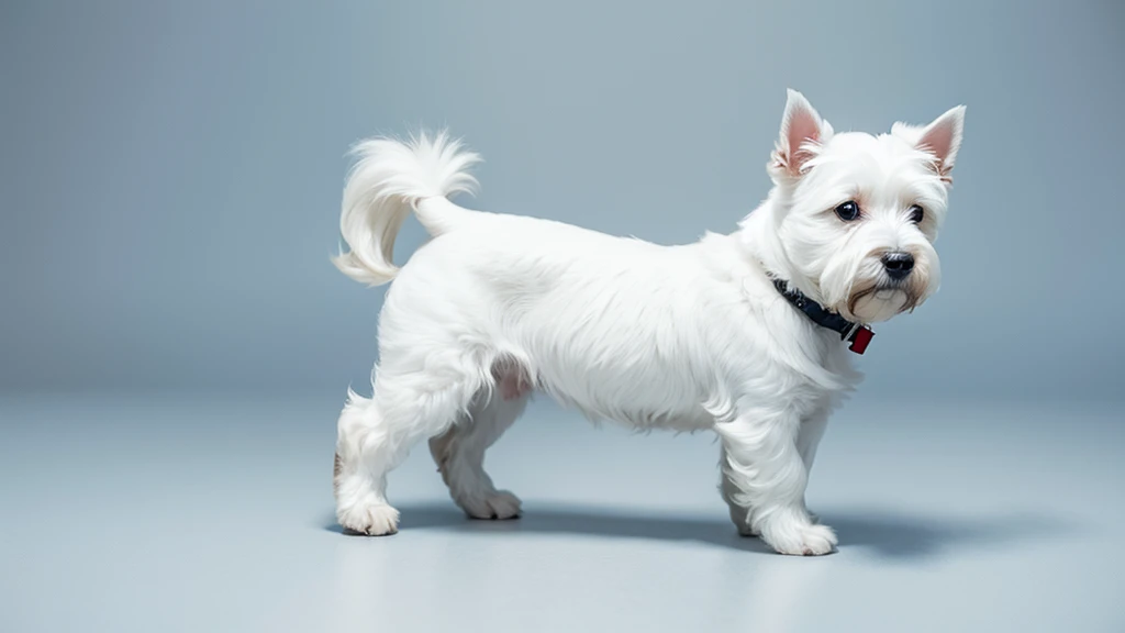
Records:
[[[520,499],[496,490],[485,472],[485,451],[520,417],[530,389],[519,378],[501,376],[494,390],[482,390],[469,418],[430,439],[430,452],[453,501],[470,517],[510,519],[520,515]]]

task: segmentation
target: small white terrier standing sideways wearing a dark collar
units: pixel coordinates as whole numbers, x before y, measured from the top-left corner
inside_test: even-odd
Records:
[[[663,247],[449,199],[479,160],[446,134],[360,143],[344,190],[350,252],[369,285],[396,279],[368,400],[349,393],[335,460],[336,516],[393,534],[387,472],[430,448],[453,500],[506,519],[520,500],[485,451],[542,391],[590,418],[712,429],[722,497],[742,534],[785,554],[836,535],[804,505],[830,410],[858,382],[865,326],[938,286],[932,242],[946,213],[964,108],[925,127],[835,134],[790,91],[768,198],[729,235]],[[395,234],[414,212],[433,237],[402,269]]]

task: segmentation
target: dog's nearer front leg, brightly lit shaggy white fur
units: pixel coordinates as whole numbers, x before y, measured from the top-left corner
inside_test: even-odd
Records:
[[[794,555],[819,555],[832,551],[836,534],[816,525],[804,507],[809,481],[802,451],[798,447],[801,418],[788,410],[748,411],[734,421],[719,422],[724,461],[723,497],[747,508],[744,532],[758,534],[771,547]],[[732,508],[731,517],[736,518]]]

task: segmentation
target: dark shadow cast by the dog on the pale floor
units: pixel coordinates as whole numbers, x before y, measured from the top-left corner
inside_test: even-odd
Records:
[[[598,538],[695,542],[741,552],[772,553],[760,540],[739,536],[729,520],[682,515],[626,512],[602,508],[525,507],[515,520],[474,520],[451,503],[399,506],[400,528],[441,529],[462,534],[568,534]],[[1036,515],[986,518],[937,518],[888,510],[828,511],[844,550],[862,549],[893,559],[918,559],[965,547],[1033,541],[1068,532],[1062,521]],[[325,529],[343,531],[334,520]]]

